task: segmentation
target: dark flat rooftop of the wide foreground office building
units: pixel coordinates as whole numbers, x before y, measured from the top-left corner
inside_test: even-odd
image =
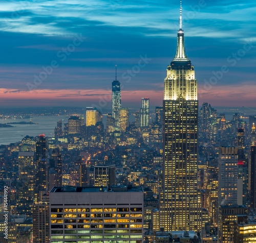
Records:
[[[143,192],[141,186],[54,186],[50,192]]]

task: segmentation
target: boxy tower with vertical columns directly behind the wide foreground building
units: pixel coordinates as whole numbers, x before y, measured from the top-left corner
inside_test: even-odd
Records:
[[[116,184],[115,165],[94,166],[94,185],[113,186]]]

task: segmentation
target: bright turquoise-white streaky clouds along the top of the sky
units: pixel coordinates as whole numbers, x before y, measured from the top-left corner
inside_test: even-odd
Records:
[[[187,36],[244,38],[254,29],[256,4],[204,1],[183,4]],[[89,26],[124,28],[145,36],[170,36],[178,28],[179,5],[166,1],[12,1],[3,4],[2,31],[69,35]],[[13,11],[15,9],[16,11]],[[3,13],[2,12],[2,13]],[[243,14],[246,13],[246,14]],[[167,16],[167,17],[166,17]],[[139,27],[139,28],[138,28]]]

